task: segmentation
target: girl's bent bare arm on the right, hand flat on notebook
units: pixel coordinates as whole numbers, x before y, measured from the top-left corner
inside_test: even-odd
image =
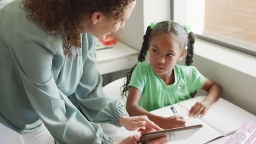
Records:
[[[208,79],[207,77],[205,77],[205,79],[205,84],[203,85],[202,89],[208,92],[207,97],[203,99],[203,101],[197,102],[191,107],[189,110],[190,117],[204,116],[210,106],[219,99],[222,88],[218,85],[218,83]]]

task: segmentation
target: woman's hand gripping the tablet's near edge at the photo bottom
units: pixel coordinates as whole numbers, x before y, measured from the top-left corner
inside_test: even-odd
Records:
[[[129,137],[126,137],[124,140],[122,140],[121,142],[117,143],[114,142],[114,144],[137,144],[137,142],[139,141],[139,135],[132,135]],[[166,143],[166,137],[161,137],[159,139],[155,139],[152,141],[147,142],[147,144],[164,144]]]

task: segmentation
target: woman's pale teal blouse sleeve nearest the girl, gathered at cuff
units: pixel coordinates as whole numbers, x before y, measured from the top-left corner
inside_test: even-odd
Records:
[[[74,92],[75,98],[89,121],[120,127],[119,119],[128,113],[121,100],[112,100],[103,92],[102,76],[96,64],[97,39],[91,34],[83,34],[82,38],[83,75]]]

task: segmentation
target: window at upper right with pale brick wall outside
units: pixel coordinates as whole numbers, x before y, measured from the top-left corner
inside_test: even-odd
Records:
[[[256,1],[172,0],[171,10],[198,38],[256,56]]]

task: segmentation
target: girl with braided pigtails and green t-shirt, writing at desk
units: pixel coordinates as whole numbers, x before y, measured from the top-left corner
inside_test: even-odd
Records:
[[[208,95],[189,110],[190,117],[202,117],[218,100],[221,87],[203,76],[193,63],[195,34],[176,22],[152,23],[144,35],[139,63],[127,74],[122,95],[127,97],[130,116],[146,115],[161,128],[184,127],[182,116],[160,117],[149,111],[194,97],[198,89]],[[144,62],[149,51],[150,62]],[[186,56],[186,65],[177,65]]]

